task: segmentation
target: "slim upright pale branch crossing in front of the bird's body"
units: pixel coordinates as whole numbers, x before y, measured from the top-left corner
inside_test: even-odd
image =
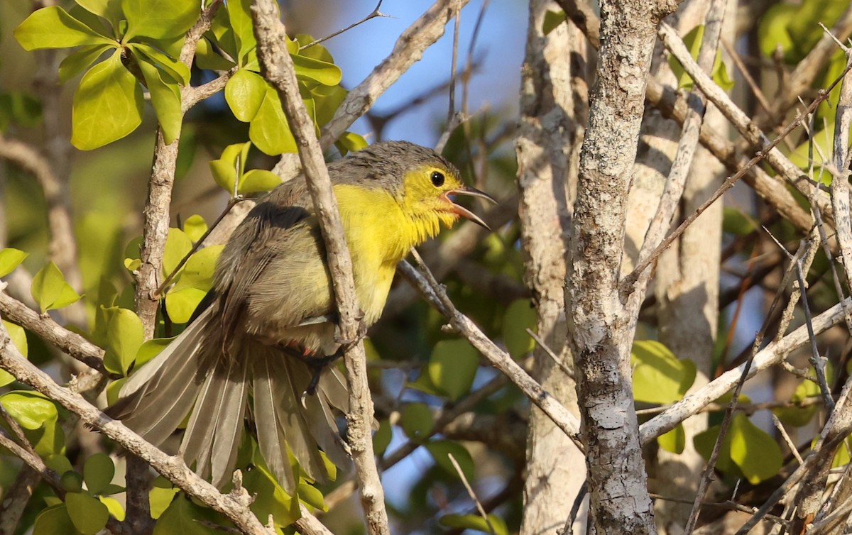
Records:
[[[331,192],[331,178],[325,167],[320,143],[314,136],[314,122],[308,117],[302,103],[292,59],[283,49],[286,34],[284,25],[278,20],[277,7],[272,0],[256,0],[251,9],[255,21],[257,56],[266,78],[279,93],[287,122],[296,138],[308,191],[314,201],[325,240],[328,268],[337,302],[340,337],[358,340],[360,308],[354,289],[352,259],[343,237],[343,223],[337,211],[337,201]],[[367,532],[389,535],[384,491],[372,447],[373,405],[363,342],[359,340],[351,344],[344,351],[343,358],[349,378],[349,446],[359,479]]]

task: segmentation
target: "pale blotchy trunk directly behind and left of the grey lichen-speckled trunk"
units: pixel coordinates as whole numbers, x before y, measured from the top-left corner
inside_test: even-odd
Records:
[[[525,279],[533,289],[538,334],[570,366],[565,309],[565,251],[571,224],[570,176],[576,181],[579,130],[573,117],[574,83],[581,73],[585,37],[573,25],[542,32],[550,2],[530,3],[527,55],[521,81],[518,158],[521,244]],[[572,83],[574,81],[574,83]],[[584,92],[582,92],[584,93]],[[585,106],[584,102],[579,103]],[[573,164],[572,164],[573,163]],[[579,417],[574,381],[543,348],[533,352],[533,377]],[[533,407],[527,437],[527,479],[521,535],[553,533],[585,480],[583,453],[544,412]]]

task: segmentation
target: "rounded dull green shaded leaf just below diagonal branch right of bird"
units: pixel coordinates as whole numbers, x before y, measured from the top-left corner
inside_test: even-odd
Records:
[[[453,401],[470,391],[478,369],[479,353],[467,340],[436,343],[427,367],[432,384]]]

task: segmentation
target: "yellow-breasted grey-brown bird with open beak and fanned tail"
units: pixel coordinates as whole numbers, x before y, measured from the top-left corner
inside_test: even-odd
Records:
[[[494,199],[463,184],[446,158],[380,141],[328,164],[352,256],[364,328],[382,314],[396,265],[459,217],[487,227],[452,196]],[[348,387],[325,244],[305,177],[260,198],[216,262],[211,290],[187,328],[130,377],[107,415],[160,446],[189,415],[178,453],[221,487],[233,474],[245,422],[292,494],[298,472],[327,479],[322,452],[347,466],[337,414]],[[250,429],[250,426],[249,426]]]

